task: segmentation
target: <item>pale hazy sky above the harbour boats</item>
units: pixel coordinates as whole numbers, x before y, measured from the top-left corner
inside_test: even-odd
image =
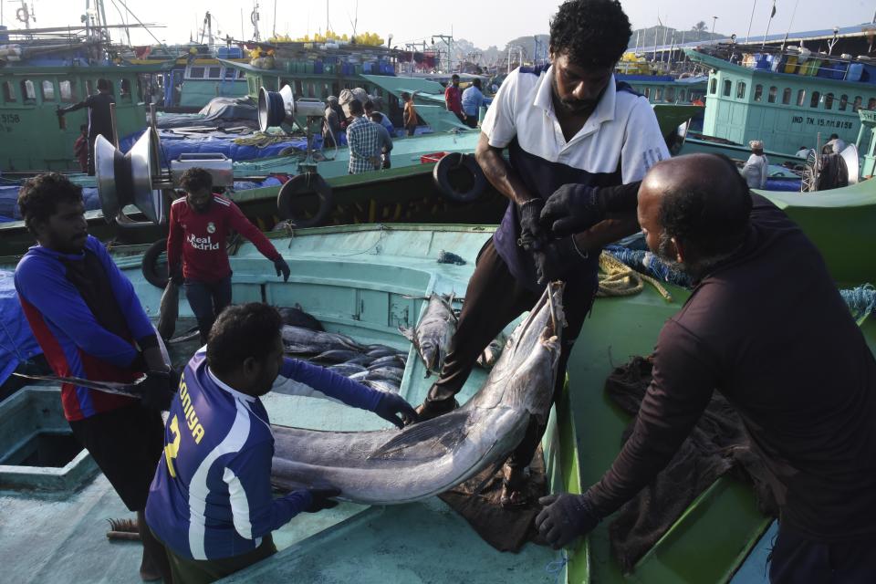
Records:
[[[30,0],[36,22],[31,26],[68,26],[79,22],[85,14],[87,0]],[[91,0],[90,4],[95,4]],[[18,2],[0,0],[3,6],[5,26],[14,28]],[[124,15],[126,22],[136,20],[125,10],[125,5],[141,22],[163,25],[151,29],[162,42],[183,43],[188,41],[196,27],[202,26],[203,16],[210,10],[216,29],[223,36],[229,34],[237,39],[243,34],[252,38],[253,26],[249,24],[254,0],[104,0],[107,20],[120,24]],[[274,17],[276,5],[276,19]],[[293,38],[324,30],[327,19],[331,28],[339,33],[350,34],[355,23],[357,31],[375,32],[384,39],[392,35],[393,45],[430,42],[433,35],[453,35],[472,41],[475,47],[495,45],[505,47],[507,41],[517,36],[548,32],[548,22],[559,5],[558,0],[260,0],[259,29],[263,38],[270,36],[276,26],[277,33],[288,33]],[[621,5],[630,17],[632,27],[656,26],[658,18],[664,26],[679,30],[690,29],[697,21],[705,21],[714,31],[730,35],[735,33],[740,40],[746,36],[749,19],[754,10],[751,36],[763,35],[769,22],[772,0],[621,0]],[[357,8],[358,6],[358,8]],[[241,8],[243,8],[243,32],[241,31]],[[770,34],[852,26],[869,23],[876,12],[874,0],[776,0],[776,16],[769,27]],[[419,16],[412,19],[412,15]],[[717,16],[717,20],[713,20]],[[793,17],[793,20],[792,20]],[[276,22],[276,25],[275,25]],[[267,33],[267,34],[266,34]],[[120,33],[113,33],[120,34]],[[131,30],[131,42],[135,45],[153,44],[155,40],[143,30]],[[436,41],[437,42],[437,41]]]

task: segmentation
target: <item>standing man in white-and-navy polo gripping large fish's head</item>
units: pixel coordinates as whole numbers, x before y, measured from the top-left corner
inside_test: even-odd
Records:
[[[554,280],[566,282],[562,388],[597,290],[601,248],[638,230],[638,182],[669,158],[648,99],[614,79],[630,35],[616,0],[568,0],[550,24],[549,67],[516,69],[496,94],[475,155],[508,208],[478,256],[454,349],[419,408],[421,419],[454,409],[481,351]],[[543,433],[531,427],[511,455],[503,505],[527,503],[525,469]]]

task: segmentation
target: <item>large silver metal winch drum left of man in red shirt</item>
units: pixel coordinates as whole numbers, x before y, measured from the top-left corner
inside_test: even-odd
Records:
[[[145,224],[127,221],[122,210],[129,204],[137,207],[149,223],[165,222],[162,191],[152,186],[159,171],[153,148],[157,141],[155,131],[146,130],[130,151],[122,154],[110,141],[98,136],[94,144],[94,166],[100,208],[107,223]]]

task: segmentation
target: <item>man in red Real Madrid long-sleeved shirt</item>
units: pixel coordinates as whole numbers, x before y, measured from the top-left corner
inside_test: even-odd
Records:
[[[185,284],[185,297],[205,344],[216,316],[231,304],[231,265],[225,250],[230,230],[243,235],[274,262],[276,275],[282,274],[284,282],[289,280],[289,266],[235,203],[213,193],[209,172],[191,168],[183,172],[180,183],[186,196],[171,205],[167,267],[177,284]]]

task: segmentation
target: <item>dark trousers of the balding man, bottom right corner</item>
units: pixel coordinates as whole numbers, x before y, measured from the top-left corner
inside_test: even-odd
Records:
[[[876,582],[876,536],[823,543],[779,524],[770,557],[771,584]]]

